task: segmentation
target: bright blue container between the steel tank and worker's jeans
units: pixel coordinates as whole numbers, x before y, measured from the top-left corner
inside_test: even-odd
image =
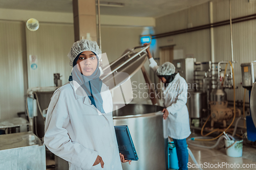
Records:
[[[168,142],[168,167],[170,169],[179,169],[177,151],[174,142]]]

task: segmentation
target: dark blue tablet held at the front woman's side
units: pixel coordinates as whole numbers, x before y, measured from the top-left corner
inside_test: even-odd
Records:
[[[138,155],[133,144],[133,139],[128,126],[115,126],[118,149],[125,160],[138,160]]]

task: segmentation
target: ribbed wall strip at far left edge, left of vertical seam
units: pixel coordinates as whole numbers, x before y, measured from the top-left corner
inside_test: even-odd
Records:
[[[25,26],[22,21],[1,20],[0,30],[0,118],[7,119],[25,110]]]

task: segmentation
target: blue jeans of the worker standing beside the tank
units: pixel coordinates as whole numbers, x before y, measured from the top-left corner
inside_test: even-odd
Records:
[[[187,170],[188,163],[188,151],[186,139],[173,139],[177,151],[179,170]],[[168,138],[164,140],[165,142],[165,165],[168,169]]]

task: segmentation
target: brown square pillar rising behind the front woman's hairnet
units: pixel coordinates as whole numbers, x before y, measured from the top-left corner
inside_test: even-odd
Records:
[[[75,41],[87,39],[97,41],[95,0],[73,0]]]

